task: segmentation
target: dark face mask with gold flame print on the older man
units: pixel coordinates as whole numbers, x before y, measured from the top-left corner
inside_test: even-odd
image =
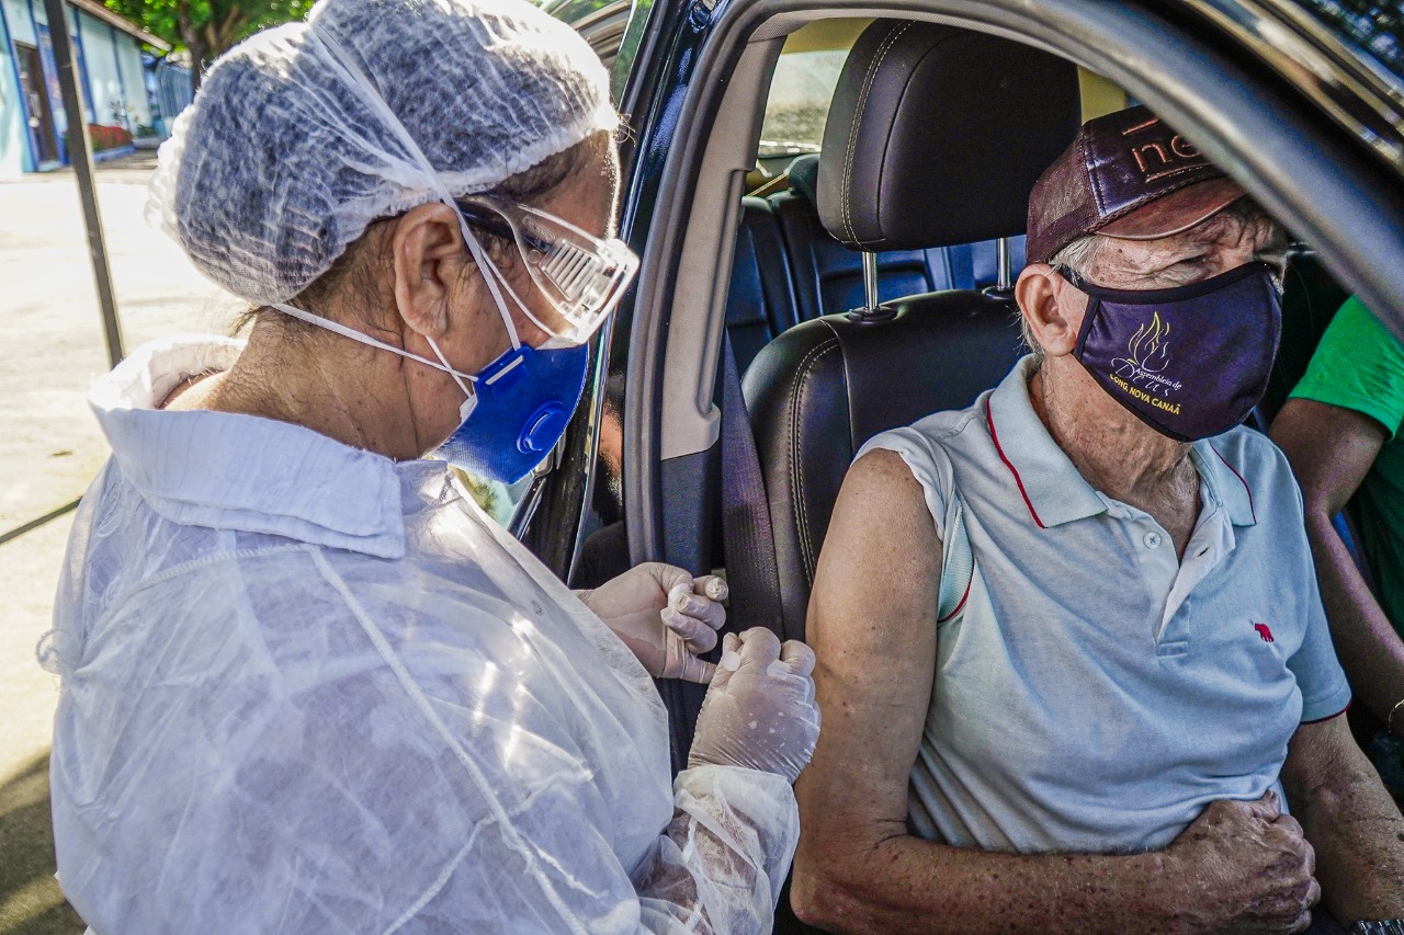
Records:
[[[1282,334],[1268,264],[1151,291],[1059,272],[1091,298],[1073,357],[1155,431],[1184,442],[1219,435],[1262,399]]]

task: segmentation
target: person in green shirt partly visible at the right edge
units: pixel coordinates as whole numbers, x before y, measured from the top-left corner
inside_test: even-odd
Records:
[[[1351,688],[1384,727],[1370,755],[1404,802],[1404,345],[1358,298],[1341,306],[1272,421],[1302,484],[1331,637]],[[1355,500],[1377,595],[1332,518]]]

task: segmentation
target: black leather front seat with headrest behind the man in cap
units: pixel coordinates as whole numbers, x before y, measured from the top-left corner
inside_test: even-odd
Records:
[[[819,167],[824,227],[851,250],[1024,233],[1033,181],[1081,122],[1077,69],[1008,39],[879,20],[834,93]],[[803,639],[834,500],[872,435],[967,406],[1021,354],[1008,299],[949,289],[781,334],[743,392],[771,511],[783,635]]]

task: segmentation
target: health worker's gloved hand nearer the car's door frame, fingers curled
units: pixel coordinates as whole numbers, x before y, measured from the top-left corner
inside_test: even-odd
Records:
[[[712,681],[716,667],[698,653],[716,646],[716,632],[726,623],[722,578],[694,578],[684,569],[647,562],[577,595],[654,678]]]

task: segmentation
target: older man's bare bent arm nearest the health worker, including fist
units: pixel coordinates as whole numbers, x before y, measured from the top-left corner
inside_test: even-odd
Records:
[[[1160,854],[1015,855],[907,834],[936,658],[941,541],[901,458],[844,480],[807,633],[824,731],[800,776],[792,901],[837,932],[1300,932],[1311,848],[1273,796],[1216,802]]]

